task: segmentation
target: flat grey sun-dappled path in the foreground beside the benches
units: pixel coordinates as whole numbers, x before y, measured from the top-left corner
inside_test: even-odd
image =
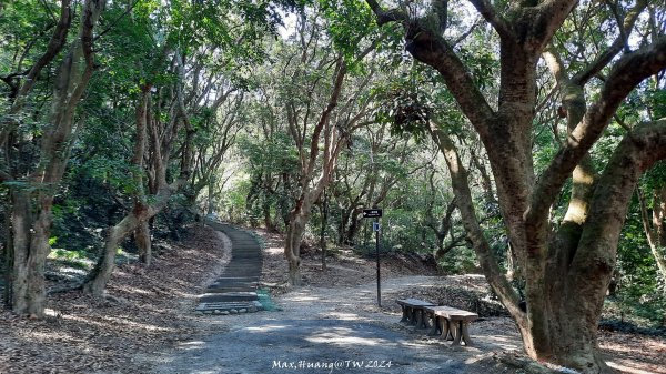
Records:
[[[441,281],[406,276],[383,287],[391,293]],[[223,333],[180,343],[158,358],[155,372],[481,374],[493,351],[519,347],[506,319],[488,319],[472,325],[475,347],[454,348],[398,324],[398,314],[375,305],[375,287],[304,287],[276,300],[282,311],[218,319]]]

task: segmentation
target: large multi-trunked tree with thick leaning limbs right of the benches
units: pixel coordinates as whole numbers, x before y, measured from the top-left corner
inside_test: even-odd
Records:
[[[447,0],[422,8],[410,2],[394,9],[376,0],[366,2],[380,26],[402,26],[406,50],[438,72],[485,148],[506,232],[525,277],[526,310],[518,306],[518,296],[478,225],[456,143],[443,125],[432,122],[428,129],[447,161],[465,231],[486,279],[515,319],[525,351],[535,360],[585,373],[609,371],[597,352],[597,321],[634,188],[647,169],[666,158],[666,121],[627,129],[599,175],[589,168],[588,154],[625,98],[648,77],[663,74],[663,24],[646,28],[652,38],[629,36],[637,20],[655,17],[663,9],[645,2],[633,9],[608,2],[613,17],[597,29],[617,36],[617,41],[606,43],[597,38],[595,43],[578,46],[581,34],[566,30],[572,14],[581,9],[595,14],[603,6],[575,0],[470,0],[483,18],[481,27],[492,28],[498,39],[486,50],[500,61],[498,92],[492,102],[480,89],[478,71],[467,64],[465,51],[455,46],[455,33],[447,30],[450,24],[461,24]],[[586,17],[584,21],[599,19]],[[558,50],[554,36],[556,41],[568,41],[564,47],[577,48],[577,55],[584,59],[559,59],[551,53]],[[537,174],[532,134],[542,57],[558,82],[567,131],[558,151]],[[598,89],[589,89],[592,81]],[[568,209],[554,224],[549,209],[569,178]]]

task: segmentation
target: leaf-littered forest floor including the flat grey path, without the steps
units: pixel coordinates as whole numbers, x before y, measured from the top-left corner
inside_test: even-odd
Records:
[[[482,276],[437,276],[418,256],[383,259],[384,307],[379,307],[372,259],[337,251],[322,271],[321,252],[310,250],[303,256],[306,285],[289,291],[281,237],[258,233],[266,244],[262,282],[281,311],[194,313],[196,295],[229,261],[224,235],[195,226],[182,243],[160,245],[149,271],[132,263],[120,266],[109,285],[112,301],[59,293],[43,321],[0,314],[0,373],[296,371],[276,368],[276,361],[375,365],[331,371],[340,373],[516,372],[496,358],[519,358],[519,336],[496,302],[483,296],[487,285]],[[455,300],[485,315],[472,324],[476,345],[453,348],[398,324],[394,300],[407,295]],[[608,363],[622,372],[666,373],[664,338],[602,332],[599,343]],[[392,367],[376,367],[382,361]]]

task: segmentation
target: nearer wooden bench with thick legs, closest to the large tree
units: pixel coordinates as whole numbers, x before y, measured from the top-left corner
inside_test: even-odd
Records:
[[[424,313],[432,320],[431,335],[453,340],[453,345],[472,346],[468,326],[472,321],[478,319],[478,314],[463,311],[451,306],[428,305],[423,307]]]

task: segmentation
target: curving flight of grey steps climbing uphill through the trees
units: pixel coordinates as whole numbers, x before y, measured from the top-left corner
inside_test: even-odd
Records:
[[[249,232],[220,222],[208,224],[231,240],[231,261],[222,275],[199,296],[198,312],[236,314],[262,309],[256,294],[261,277],[261,245]]]

